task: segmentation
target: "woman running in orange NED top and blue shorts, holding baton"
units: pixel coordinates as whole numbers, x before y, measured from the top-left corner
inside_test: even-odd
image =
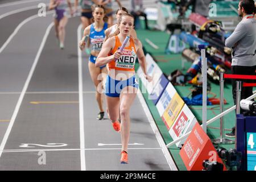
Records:
[[[146,58],[142,44],[138,39],[130,37],[125,49],[119,51],[126,36],[130,36],[134,28],[134,18],[130,14],[123,14],[118,22],[119,34],[106,40],[96,60],[96,67],[108,64],[109,75],[106,78],[105,94],[108,106],[109,119],[114,130],[121,130],[122,164],[128,163],[127,147],[130,137],[130,108],[136,97],[138,82],[135,78],[134,64],[138,57],[144,77],[148,81],[152,78],[147,75]],[[121,126],[118,122],[119,110]]]

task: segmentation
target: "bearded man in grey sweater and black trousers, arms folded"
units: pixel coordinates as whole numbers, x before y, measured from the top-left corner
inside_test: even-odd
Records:
[[[225,41],[225,46],[233,48],[231,72],[234,75],[255,75],[256,70],[256,20],[253,0],[240,0],[238,14],[242,17],[236,29]],[[232,79],[232,93],[236,105],[236,80]],[[251,80],[242,80],[251,82]],[[241,100],[253,95],[252,87],[242,87]],[[242,113],[241,109],[241,113]],[[235,127],[226,137],[235,137]]]

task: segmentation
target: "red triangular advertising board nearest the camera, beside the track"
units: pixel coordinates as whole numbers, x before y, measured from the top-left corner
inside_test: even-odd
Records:
[[[209,162],[217,161],[223,164],[208,135],[199,123],[193,127],[191,134],[180,150],[180,156],[188,171],[203,170],[203,161],[207,159]]]

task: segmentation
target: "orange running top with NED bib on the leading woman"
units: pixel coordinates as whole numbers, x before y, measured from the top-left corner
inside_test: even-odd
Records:
[[[113,55],[122,46],[118,36],[115,36],[115,47],[110,52]],[[122,51],[122,55],[118,60],[113,60],[108,63],[109,69],[116,69],[122,71],[134,71],[134,64],[136,61],[136,48],[133,38],[130,37],[130,46],[125,47]]]

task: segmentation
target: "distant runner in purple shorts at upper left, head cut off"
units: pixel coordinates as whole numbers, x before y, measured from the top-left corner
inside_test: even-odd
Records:
[[[73,16],[70,0],[51,0],[49,3],[49,10],[55,9],[55,14],[53,15],[55,18],[55,35],[59,40],[59,46],[61,49],[64,49],[65,26],[68,23],[66,11],[67,5],[69,6],[71,16]]]

